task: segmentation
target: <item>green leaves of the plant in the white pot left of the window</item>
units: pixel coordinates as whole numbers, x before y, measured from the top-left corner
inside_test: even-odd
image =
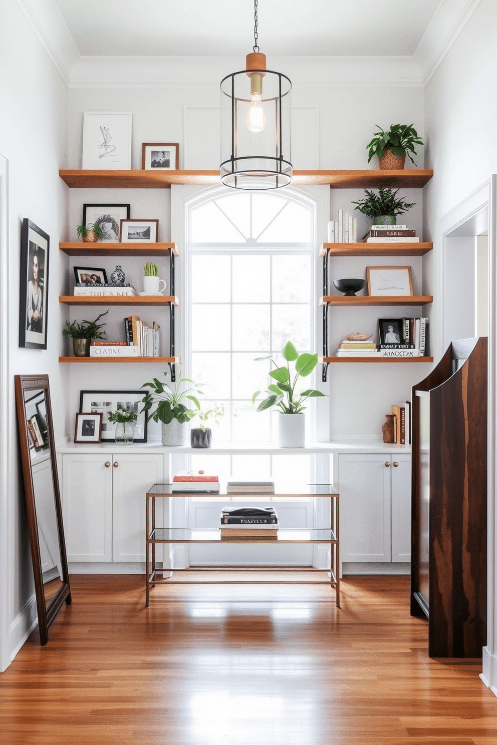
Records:
[[[169,373],[163,373],[167,378]],[[200,402],[197,396],[200,395],[201,384],[194,383],[191,378],[182,378],[179,376],[171,387],[167,381],[160,381],[159,378],[153,378],[150,383],[144,383],[142,388],[151,388],[151,391],[145,394],[142,399],[144,407],[142,411],[151,411],[148,414],[148,421],[153,419],[154,422],[171,424],[173,419],[184,424],[193,419],[197,411],[200,411]],[[194,408],[191,407],[193,404]]]

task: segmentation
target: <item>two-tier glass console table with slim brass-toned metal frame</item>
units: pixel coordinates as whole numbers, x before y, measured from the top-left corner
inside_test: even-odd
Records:
[[[153,484],[148,489],[146,495],[146,552],[145,552],[145,586],[146,586],[146,600],[145,606],[148,608],[150,605],[150,589],[157,584],[178,584],[182,583],[182,580],[173,580],[171,577],[165,577],[165,574],[172,574],[174,569],[165,566],[159,567],[156,562],[156,545],[161,544],[197,544],[197,543],[216,543],[218,545],[233,545],[235,544],[254,544],[262,543],[265,545],[282,545],[291,543],[304,543],[304,544],[327,544],[329,545],[330,552],[330,568],[329,569],[314,569],[307,566],[301,567],[285,567],[282,565],[271,565],[269,567],[259,566],[236,566],[236,567],[191,567],[179,569],[177,571],[312,571],[321,572],[326,574],[326,580],[319,581],[308,581],[308,580],[288,580],[288,584],[326,584],[330,587],[335,587],[336,593],[336,605],[340,607],[340,524],[339,524],[339,495],[337,490],[332,484],[291,484],[291,485],[279,485],[275,486],[275,493],[268,495],[268,497],[279,497],[279,498],[324,498],[329,499],[330,503],[330,524],[329,527],[316,527],[316,528],[304,528],[303,530],[285,530],[285,528],[279,528],[278,535],[276,538],[221,538],[219,526],[212,529],[205,528],[186,528],[186,527],[164,527],[163,525],[156,524],[156,504],[160,499],[174,498],[174,497],[194,497],[203,496],[206,498],[212,497],[216,501],[222,500],[223,497],[227,498],[227,501],[232,495],[227,495],[226,492],[220,492],[219,494],[202,494],[195,492],[175,492],[172,491],[172,484]],[[261,498],[260,494],[253,495],[254,497]],[[241,497],[237,494],[237,497]],[[250,501],[250,494],[243,495]],[[238,501],[238,500],[237,500]],[[162,510],[161,510],[162,513]],[[196,580],[197,581],[197,580]],[[201,583],[202,580],[198,580]],[[256,580],[240,580],[243,584],[255,583]],[[236,580],[235,580],[236,582]],[[234,583],[235,583],[234,582]],[[268,584],[270,584],[268,582]]]

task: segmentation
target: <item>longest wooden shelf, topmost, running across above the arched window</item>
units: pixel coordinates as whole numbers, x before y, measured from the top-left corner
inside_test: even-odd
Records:
[[[60,178],[70,188],[171,188],[171,184],[220,183],[219,171],[83,171],[80,168],[61,169]],[[329,184],[332,188],[376,188],[396,186],[421,188],[433,176],[431,169],[407,168],[402,171],[382,171],[366,168],[360,171],[294,171],[292,183]]]

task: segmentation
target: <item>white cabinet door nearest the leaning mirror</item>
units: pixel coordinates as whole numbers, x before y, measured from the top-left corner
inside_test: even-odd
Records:
[[[68,562],[112,561],[112,471],[110,454],[62,457],[62,511]]]

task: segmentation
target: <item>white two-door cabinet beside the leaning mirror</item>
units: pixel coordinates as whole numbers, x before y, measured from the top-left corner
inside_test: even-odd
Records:
[[[144,562],[145,493],[164,480],[161,454],[63,454],[69,562]]]

